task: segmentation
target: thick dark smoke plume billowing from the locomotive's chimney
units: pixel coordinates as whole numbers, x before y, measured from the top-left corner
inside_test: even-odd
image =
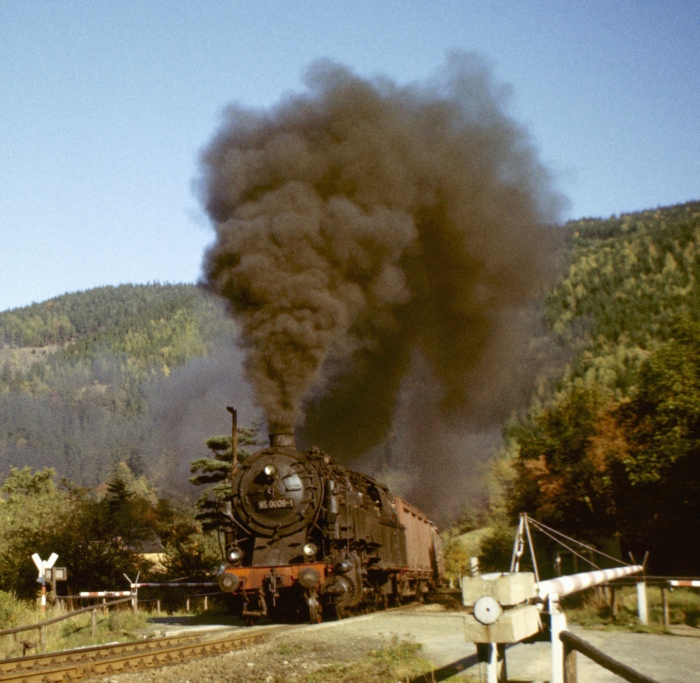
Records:
[[[385,440],[399,405],[423,435],[421,413],[492,427],[560,205],[507,90],[465,54],[423,84],[320,62],[306,86],[229,107],[203,154],[204,282],[240,326],[270,428],[303,425],[347,460]],[[410,399],[418,366],[429,408]]]

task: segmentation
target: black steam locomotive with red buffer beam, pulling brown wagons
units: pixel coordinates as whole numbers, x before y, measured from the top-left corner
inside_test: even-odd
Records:
[[[444,573],[435,525],[293,434],[234,466],[219,586],[248,623],[320,622],[421,600]]]

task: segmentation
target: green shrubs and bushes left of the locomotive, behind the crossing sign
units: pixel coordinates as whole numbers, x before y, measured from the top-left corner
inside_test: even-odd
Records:
[[[139,572],[142,579],[201,579],[220,562],[216,538],[202,532],[193,511],[160,499],[152,484],[124,463],[101,491],[57,485],[51,469],[10,471],[0,487],[3,595],[36,597],[34,553],[44,559],[58,554],[58,565],[68,568],[67,585],[59,584],[64,595],[123,589],[124,574],[134,577]],[[162,566],[141,553],[153,538],[165,547]]]

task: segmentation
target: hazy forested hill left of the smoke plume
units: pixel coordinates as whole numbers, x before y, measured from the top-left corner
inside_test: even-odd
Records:
[[[193,285],[103,287],[1,313],[0,473],[50,466],[95,485],[119,461],[153,470],[168,453],[152,397],[233,336]]]

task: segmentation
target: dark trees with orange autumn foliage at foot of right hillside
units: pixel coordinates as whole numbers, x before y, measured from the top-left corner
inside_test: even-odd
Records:
[[[617,536],[657,573],[700,567],[700,324],[678,323],[616,401],[579,379],[511,429],[511,512],[593,543]]]

